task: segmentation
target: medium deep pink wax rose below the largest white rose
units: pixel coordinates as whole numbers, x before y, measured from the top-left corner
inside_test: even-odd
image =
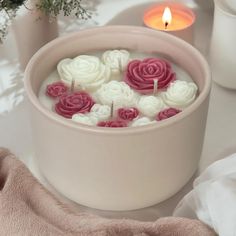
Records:
[[[85,92],[74,92],[62,95],[55,105],[55,111],[65,118],[71,118],[76,113],[89,112],[95,104],[89,94]]]

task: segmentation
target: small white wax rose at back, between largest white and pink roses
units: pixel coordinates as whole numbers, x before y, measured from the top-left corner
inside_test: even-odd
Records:
[[[125,70],[129,59],[130,53],[126,50],[107,50],[102,55],[102,61],[110,67],[114,75]]]

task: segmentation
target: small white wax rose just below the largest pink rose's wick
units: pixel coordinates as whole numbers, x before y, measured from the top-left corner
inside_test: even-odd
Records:
[[[165,108],[165,104],[160,97],[141,96],[137,104],[139,110],[148,117],[154,117]]]

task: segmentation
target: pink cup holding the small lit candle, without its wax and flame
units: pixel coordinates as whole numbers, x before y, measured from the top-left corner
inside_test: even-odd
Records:
[[[155,12],[157,12],[157,15],[159,15],[160,14],[160,8],[164,8],[166,6],[170,7],[170,9],[172,9],[172,10],[173,9],[176,9],[176,11],[178,10],[179,14],[182,14],[184,16],[188,16],[188,18],[191,19],[191,23],[189,25],[187,25],[185,28],[180,29],[180,30],[170,30],[170,31],[166,30],[166,31],[163,31],[163,32],[174,35],[178,38],[181,38],[181,39],[185,40],[186,42],[188,42],[190,44],[193,44],[194,43],[194,40],[193,40],[194,39],[194,37],[193,37],[193,35],[194,35],[194,24],[195,24],[195,21],[196,21],[196,16],[195,16],[194,12],[190,8],[186,7],[186,5],[184,5],[184,4],[171,2],[171,1],[156,3],[155,5],[149,7],[144,12],[144,15],[143,15],[144,25],[146,25],[147,27],[152,28],[149,25],[149,22],[148,22],[149,16],[155,14]]]

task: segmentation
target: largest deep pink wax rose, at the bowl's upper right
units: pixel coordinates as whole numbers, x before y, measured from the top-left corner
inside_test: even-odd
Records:
[[[169,62],[159,58],[133,60],[127,66],[125,82],[142,94],[154,92],[154,81],[158,90],[166,89],[176,79]]]

